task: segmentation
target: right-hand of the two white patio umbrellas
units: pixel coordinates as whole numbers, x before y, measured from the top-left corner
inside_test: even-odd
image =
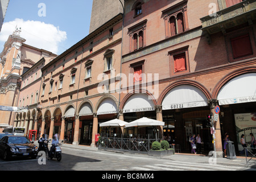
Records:
[[[155,119],[150,119],[150,118],[143,117],[141,119],[137,119],[137,120],[135,120],[133,122],[130,122],[130,123],[127,123],[125,125],[125,127],[134,127],[134,126],[144,126],[144,127],[147,127],[147,126],[164,126],[164,122],[158,121],[158,120],[155,120]]]

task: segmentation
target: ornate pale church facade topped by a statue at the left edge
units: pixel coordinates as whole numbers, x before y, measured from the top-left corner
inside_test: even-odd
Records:
[[[35,48],[25,44],[25,39],[20,37],[20,29],[17,28],[6,41],[1,59],[1,79],[0,79],[0,105],[15,107],[19,105],[18,97],[21,75],[28,71],[42,57],[56,57],[52,52]],[[28,81],[26,81],[28,84]],[[12,111],[0,111],[1,126],[13,126],[15,113]]]

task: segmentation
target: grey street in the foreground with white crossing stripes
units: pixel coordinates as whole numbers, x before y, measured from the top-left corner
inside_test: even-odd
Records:
[[[248,168],[62,148],[62,159],[0,159],[0,171],[242,171]],[[185,159],[184,157],[182,159]],[[255,169],[252,169],[255,170]]]

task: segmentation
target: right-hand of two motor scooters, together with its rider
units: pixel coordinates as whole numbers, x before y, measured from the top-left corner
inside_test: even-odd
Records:
[[[55,134],[52,140],[51,151],[49,152],[49,158],[56,158],[57,161],[61,160],[61,146],[63,145],[63,140],[59,140],[59,135]]]

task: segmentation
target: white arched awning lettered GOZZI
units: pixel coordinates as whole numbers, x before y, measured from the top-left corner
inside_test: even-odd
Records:
[[[182,109],[207,105],[207,97],[199,88],[191,85],[180,85],[166,94],[162,102],[162,109]]]

